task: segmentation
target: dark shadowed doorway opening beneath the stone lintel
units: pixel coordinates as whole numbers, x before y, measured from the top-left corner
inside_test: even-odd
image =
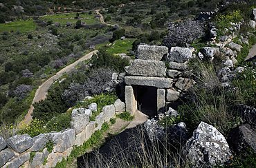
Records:
[[[141,85],[137,86],[137,92],[135,95],[137,109],[149,116],[149,118],[156,115],[156,92],[156,87]]]

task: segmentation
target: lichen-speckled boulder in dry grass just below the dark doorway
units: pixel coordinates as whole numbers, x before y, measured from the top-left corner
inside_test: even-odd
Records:
[[[164,127],[158,125],[156,120],[152,118],[151,120],[146,120],[144,123],[144,127],[146,129],[147,135],[149,136],[149,140],[153,143],[155,140],[162,138],[164,134]]]

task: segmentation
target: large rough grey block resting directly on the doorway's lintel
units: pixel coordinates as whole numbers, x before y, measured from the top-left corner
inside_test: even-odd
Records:
[[[164,77],[166,67],[163,61],[136,59],[131,65],[125,67],[125,72],[131,76]]]

